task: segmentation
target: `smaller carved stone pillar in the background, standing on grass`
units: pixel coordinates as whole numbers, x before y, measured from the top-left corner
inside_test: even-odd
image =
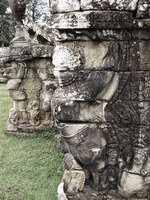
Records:
[[[52,46],[29,44],[4,48],[3,77],[13,100],[7,132],[17,134],[47,130],[53,126],[51,98],[56,88]]]

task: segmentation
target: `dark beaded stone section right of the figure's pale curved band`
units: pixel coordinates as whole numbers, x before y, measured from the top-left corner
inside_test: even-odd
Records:
[[[119,84],[113,99],[149,101],[150,72],[119,73]]]

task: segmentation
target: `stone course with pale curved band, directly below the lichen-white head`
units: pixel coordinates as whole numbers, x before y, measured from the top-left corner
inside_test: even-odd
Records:
[[[150,101],[150,71],[79,70],[75,73],[78,73],[76,81],[59,87],[55,92],[56,99]]]

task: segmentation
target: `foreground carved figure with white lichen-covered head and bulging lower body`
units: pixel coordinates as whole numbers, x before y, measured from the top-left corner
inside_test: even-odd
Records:
[[[109,48],[115,46],[113,43]],[[113,59],[110,52],[103,55],[104,62]],[[83,72],[82,62],[78,48],[57,45],[53,64],[60,87],[54,93],[52,107],[67,146],[62,179],[65,190],[68,193],[84,191],[89,182],[99,193],[114,189],[118,179],[119,144],[115,133],[107,130],[104,110],[117,90],[119,79],[115,72]],[[101,98],[104,101],[99,101]],[[94,190],[88,190],[92,198]],[[79,198],[84,199],[86,195]]]

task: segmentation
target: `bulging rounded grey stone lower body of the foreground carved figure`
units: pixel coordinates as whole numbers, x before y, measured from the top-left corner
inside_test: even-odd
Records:
[[[96,125],[65,124],[60,130],[72,155],[82,164],[96,164],[104,156],[106,139]]]

